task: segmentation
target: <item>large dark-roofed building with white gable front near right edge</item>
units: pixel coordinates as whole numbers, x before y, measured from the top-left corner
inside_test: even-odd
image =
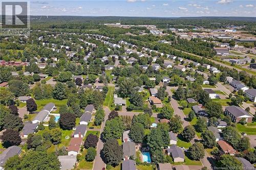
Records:
[[[242,118],[245,118],[246,122],[251,123],[253,117],[239,106],[226,107],[224,114],[230,116],[234,123],[238,123]]]

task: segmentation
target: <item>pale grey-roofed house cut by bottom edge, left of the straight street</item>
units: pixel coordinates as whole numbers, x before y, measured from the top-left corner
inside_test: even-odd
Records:
[[[60,162],[60,170],[71,170],[74,169],[76,164],[76,156],[75,155],[61,155],[58,156]]]

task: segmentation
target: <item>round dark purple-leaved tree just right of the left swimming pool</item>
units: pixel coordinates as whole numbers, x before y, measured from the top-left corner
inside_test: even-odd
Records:
[[[59,126],[63,130],[72,130],[76,125],[76,116],[73,113],[62,113],[59,118]]]

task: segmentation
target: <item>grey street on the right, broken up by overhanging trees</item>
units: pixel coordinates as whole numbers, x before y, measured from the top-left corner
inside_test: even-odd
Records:
[[[166,87],[166,92],[167,92],[168,95],[170,95],[170,96],[173,95],[172,91],[170,91],[170,87],[168,87],[168,86]],[[181,117],[181,119],[182,119],[182,121],[183,121],[183,123],[182,123],[183,128],[186,127],[186,126],[188,126],[188,125],[190,125],[189,122],[187,122],[186,116],[184,115],[183,111],[180,109],[178,102],[177,102],[175,99],[172,98],[172,100],[170,101],[170,104],[172,104],[172,106],[173,106],[173,108],[174,108],[174,114],[177,114],[177,115],[179,115],[179,116]],[[193,143],[195,143],[195,140],[196,140],[196,141],[200,140],[200,139],[197,137],[197,135],[196,135],[195,138],[194,138],[193,140],[191,140],[190,142],[193,144]],[[206,151],[204,151],[204,153],[205,153],[205,156],[204,156],[203,159],[201,159],[201,162],[202,162],[203,166],[206,166],[206,167],[208,167],[209,169],[212,169],[212,168],[211,168],[211,163],[208,161],[208,159],[211,159],[211,157],[209,156],[209,154],[208,154]]]

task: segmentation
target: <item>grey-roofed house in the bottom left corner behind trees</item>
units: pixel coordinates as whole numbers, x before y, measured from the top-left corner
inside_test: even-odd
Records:
[[[7,148],[0,154],[0,169],[4,169],[6,161],[15,155],[19,155],[22,152],[22,148],[17,146],[12,146]]]

